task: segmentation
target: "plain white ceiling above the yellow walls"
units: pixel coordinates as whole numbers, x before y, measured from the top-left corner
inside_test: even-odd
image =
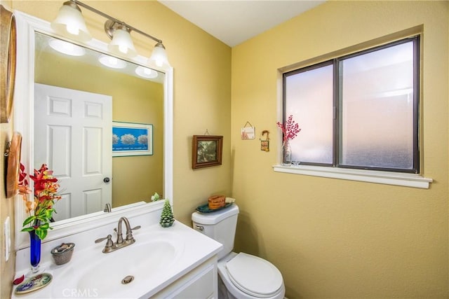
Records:
[[[230,47],[290,20],[321,0],[158,0]]]

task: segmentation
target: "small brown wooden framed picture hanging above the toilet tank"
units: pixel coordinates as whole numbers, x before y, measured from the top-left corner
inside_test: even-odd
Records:
[[[223,137],[194,135],[192,140],[192,169],[222,165]]]

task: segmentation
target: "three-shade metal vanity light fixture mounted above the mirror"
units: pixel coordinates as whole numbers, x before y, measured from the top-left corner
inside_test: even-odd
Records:
[[[92,37],[88,32],[86,22],[84,22],[79,6],[107,19],[105,22],[105,32],[107,36],[109,36],[109,39],[112,39],[108,46],[108,49],[112,53],[130,58],[138,55],[130,36],[130,32],[137,32],[138,34],[142,34],[143,36],[147,36],[149,39],[156,41],[156,45],[154,46],[151,57],[149,57],[149,61],[154,62],[158,67],[170,66],[166,48],[163,46],[160,39],[156,39],[156,37],[142,32],[139,29],[113,18],[102,11],[98,11],[87,4],[83,4],[78,0],[69,0],[62,4],[58,16],[51,22],[51,28],[55,30],[56,33],[68,37],[69,39],[74,39],[75,41],[80,42],[90,41]]]

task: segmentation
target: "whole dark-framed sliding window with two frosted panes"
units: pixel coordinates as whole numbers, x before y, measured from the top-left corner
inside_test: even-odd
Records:
[[[420,37],[283,74],[283,118],[300,165],[417,174]]]

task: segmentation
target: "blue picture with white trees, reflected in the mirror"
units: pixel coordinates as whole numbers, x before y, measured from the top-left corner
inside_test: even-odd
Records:
[[[112,157],[153,155],[153,125],[112,122]]]

